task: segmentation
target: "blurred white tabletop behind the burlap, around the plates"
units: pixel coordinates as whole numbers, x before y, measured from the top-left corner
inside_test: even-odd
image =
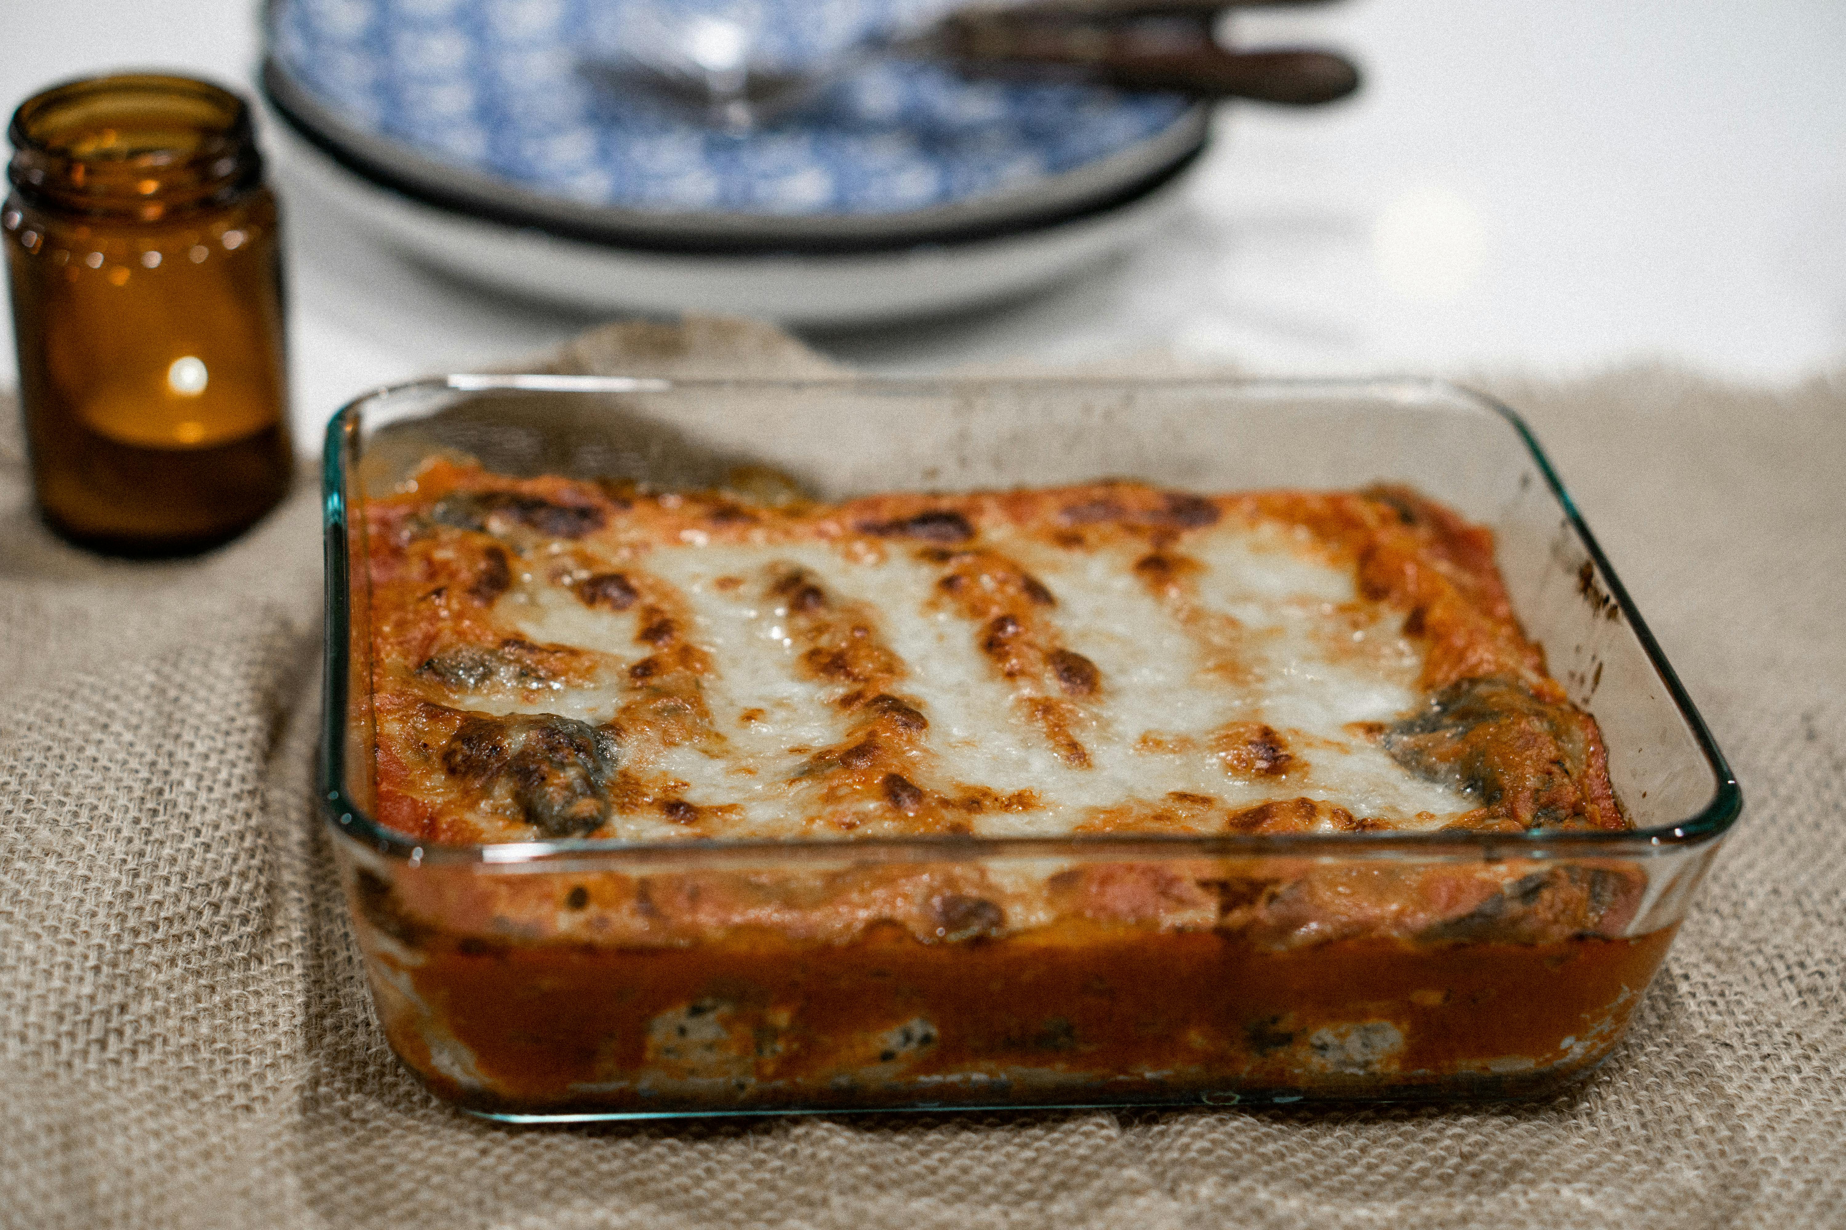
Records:
[[[316,0],[321,24],[303,37],[358,30],[366,2]],[[419,20],[469,7],[399,2]],[[500,15],[543,22],[548,4]],[[266,53],[247,0],[59,0],[55,15],[0,0],[0,13],[7,109],[52,81],[126,66],[255,94]],[[903,373],[1150,347],[1277,374],[1573,374],[1672,360],[1780,384],[1846,361],[1846,6],[1346,0],[1241,9],[1229,37],[1338,48],[1364,87],[1325,107],[1217,105],[1204,155],[1161,208],[1049,288],[805,336]],[[325,48],[294,53],[301,77],[334,65]],[[611,315],[401,254],[380,238],[388,227],[316,186],[327,159],[312,142],[279,131],[273,112],[264,125],[288,208],[303,446],[371,385],[513,360]],[[0,330],[6,385],[11,334]]]

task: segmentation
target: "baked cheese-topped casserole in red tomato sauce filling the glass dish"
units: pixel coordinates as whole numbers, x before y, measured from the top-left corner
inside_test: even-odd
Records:
[[[364,522],[384,824],[770,850],[360,869],[393,1042],[485,1108],[1503,1079],[1595,1059],[1665,952],[1617,865],[973,841],[1624,828],[1492,535],[1410,489],[820,503],[434,459]],[[969,841],[772,852],[908,837]]]

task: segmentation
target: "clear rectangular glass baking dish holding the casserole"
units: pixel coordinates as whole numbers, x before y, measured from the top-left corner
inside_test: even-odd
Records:
[[[1493,529],[1634,830],[421,843],[373,819],[354,511],[434,452],[661,489],[768,467],[827,500],[1412,483]],[[373,1001],[438,1097],[498,1119],[1541,1095],[1615,1047],[1741,810],[1532,435],[1434,382],[449,376],[332,420],[325,531],[323,798]],[[1008,931],[953,891],[1002,874],[1176,885],[1218,909]],[[1222,922],[1252,894],[1440,894],[1458,876],[1492,893],[1418,929],[1388,911],[1289,935]],[[943,926],[816,922],[873,883],[936,893]],[[604,911],[672,894],[748,902],[755,922],[600,939]],[[1582,929],[1540,917],[1565,898],[1595,905]]]

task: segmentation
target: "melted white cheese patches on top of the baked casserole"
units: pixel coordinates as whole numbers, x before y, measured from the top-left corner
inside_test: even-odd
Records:
[[[701,688],[716,732],[659,749],[648,771],[666,775],[689,804],[735,808],[722,835],[812,832],[805,775],[820,749],[855,738],[857,719],[842,708],[851,684],[803,669],[799,612],[775,590],[777,577],[801,570],[831,609],[855,612],[864,636],[901,660],[890,692],[929,721],[905,780],[940,795],[984,787],[1013,798],[973,811],[971,832],[1161,828],[1157,819],[1133,822],[1154,813],[1183,830],[1191,813],[1292,798],[1414,830],[1479,806],[1410,775],[1368,738],[1364,723],[1388,723],[1418,703],[1421,653],[1403,634],[1401,612],[1362,599],[1351,566],[1331,561],[1305,531],[1226,518],[1185,537],[1180,559],[1167,561],[1180,577],[1169,585],[1150,583],[1145,544],[1071,551],[989,529],[980,546],[1049,590],[1036,636],[1093,664],[1095,686],[1082,668],[1069,695],[997,669],[991,625],[945,601],[943,562],[908,544],[646,550],[639,566],[677,590],[692,623],[687,640],[709,655]],[[633,695],[626,671],[648,655],[637,644],[637,610],[589,607],[565,585],[528,574],[498,599],[495,618],[537,644],[607,655],[611,668],[585,686],[473,708],[596,725]],[[1056,721],[1080,754],[1047,734],[1047,712],[1061,714]],[[838,811],[842,828],[851,813]],[[629,839],[685,835],[641,813],[618,815],[611,830]]]

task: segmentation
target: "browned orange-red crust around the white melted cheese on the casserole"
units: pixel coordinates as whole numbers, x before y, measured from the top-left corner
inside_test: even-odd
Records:
[[[414,491],[371,502],[366,516],[378,815],[428,841],[598,835],[620,815],[652,815],[685,835],[733,832],[735,806],[687,798],[687,784],[661,767],[674,749],[722,758],[727,736],[707,706],[713,655],[694,636],[687,596],[648,568],[657,550],[748,546],[773,559],[777,548],[825,544],[860,561],[906,553],[936,577],[927,607],[969,629],[1015,716],[1061,763],[1085,769],[1084,730],[1097,723],[1111,680],[1065,644],[1052,618],[1058,599],[1004,544],[1126,551],[1135,581],[1200,647],[1204,673],[1237,684],[1250,669],[1248,631],[1202,599],[1202,564],[1189,551],[1220,522],[1289,529],[1351,570],[1364,603],[1401,612],[1403,636],[1421,651],[1416,684],[1425,704],[1349,734],[1375,741],[1408,773],[1477,798],[1456,824],[1624,826],[1595,721],[1569,704],[1519,631],[1492,535],[1405,489],[1207,498],[1093,483],[764,507],[716,492],[511,479],[436,461]],[[526,640],[502,614],[515,577],[633,620],[631,655]],[[786,784],[792,810],[831,817],[823,828],[833,834],[905,835],[969,832],[975,817],[1039,806],[1032,789],[941,778],[927,704],[906,692],[910,666],[888,644],[879,610],[792,562],[768,575],[722,577],[725,586],[757,588],[786,610],[796,671],[829,688],[845,717],[845,738],[797,749],[805,758]],[[1337,618],[1329,636],[1344,642]],[[548,695],[583,688],[611,697],[594,723],[532,712]],[[1228,808],[1211,795],[1169,791],[1091,808],[1071,828],[1392,826],[1290,791],[1314,751],[1261,721],[1231,721],[1204,739],[1148,732],[1139,751],[1196,743],[1226,775],[1270,784],[1272,797]]]

